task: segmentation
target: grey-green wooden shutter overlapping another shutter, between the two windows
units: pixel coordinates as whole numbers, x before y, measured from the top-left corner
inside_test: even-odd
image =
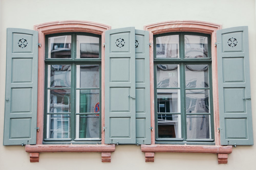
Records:
[[[105,37],[105,143],[135,143],[135,28]]]

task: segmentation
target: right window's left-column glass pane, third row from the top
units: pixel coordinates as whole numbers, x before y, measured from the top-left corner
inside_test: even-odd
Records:
[[[180,113],[179,89],[157,89],[157,113]]]

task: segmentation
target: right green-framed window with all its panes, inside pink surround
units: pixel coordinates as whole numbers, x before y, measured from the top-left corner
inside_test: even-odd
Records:
[[[155,142],[214,145],[210,35],[157,34],[153,44]]]

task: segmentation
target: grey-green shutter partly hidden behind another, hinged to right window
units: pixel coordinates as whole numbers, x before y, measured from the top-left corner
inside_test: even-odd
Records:
[[[149,32],[135,30],[136,144],[151,144]]]

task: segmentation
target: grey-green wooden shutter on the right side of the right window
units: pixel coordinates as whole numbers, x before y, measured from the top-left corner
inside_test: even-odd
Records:
[[[248,27],[217,31],[221,145],[253,145]]]

